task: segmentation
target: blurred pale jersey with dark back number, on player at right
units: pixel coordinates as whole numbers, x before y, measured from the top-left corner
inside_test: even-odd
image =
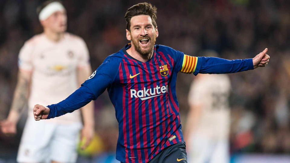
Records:
[[[227,139],[230,128],[230,79],[224,74],[202,74],[191,85],[189,105],[200,105],[201,114],[191,135]]]

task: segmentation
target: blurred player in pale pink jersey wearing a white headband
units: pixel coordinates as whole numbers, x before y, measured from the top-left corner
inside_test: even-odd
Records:
[[[44,2],[37,8],[37,14],[43,33],[27,40],[20,50],[18,82],[8,118],[0,123],[1,130],[6,134],[16,133],[21,110],[28,100],[29,116],[17,161],[75,162],[80,129],[81,137],[86,140],[82,148],[94,135],[93,104],[83,107],[82,113],[77,110],[41,122],[36,122],[31,113],[35,103],[47,105],[60,101],[90,76],[89,51],[82,38],[65,32],[66,9],[60,1]]]

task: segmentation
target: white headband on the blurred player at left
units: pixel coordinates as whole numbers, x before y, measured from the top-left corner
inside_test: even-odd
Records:
[[[40,11],[38,18],[42,21],[47,19],[54,12],[63,10],[65,10],[65,8],[60,2],[51,2]]]

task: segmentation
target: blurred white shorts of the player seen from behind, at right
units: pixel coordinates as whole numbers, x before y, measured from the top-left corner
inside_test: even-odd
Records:
[[[188,144],[188,163],[229,163],[229,140],[194,136]]]

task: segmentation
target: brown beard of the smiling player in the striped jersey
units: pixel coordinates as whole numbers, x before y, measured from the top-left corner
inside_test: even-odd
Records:
[[[149,37],[144,37],[144,38],[147,38],[150,40],[150,43],[149,43],[149,50],[141,50],[141,46],[139,45],[139,40],[134,40],[134,39],[131,39],[132,41],[132,44],[135,48],[135,50],[141,55],[141,57],[143,59],[150,59],[150,55],[152,54],[153,52],[153,49],[154,49],[154,45],[155,45],[155,42],[156,42],[156,35],[154,35],[152,38],[149,38]],[[141,38],[141,39],[144,39],[144,38]],[[140,39],[140,40],[141,40]]]

